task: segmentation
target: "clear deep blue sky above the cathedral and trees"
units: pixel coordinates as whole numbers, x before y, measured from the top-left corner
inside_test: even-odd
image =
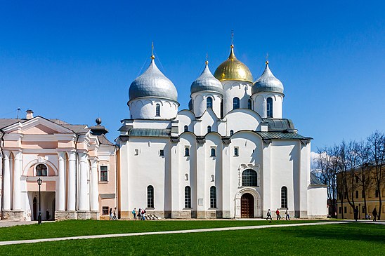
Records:
[[[157,65],[181,109],[204,68],[235,55],[285,86],[283,116],[317,147],[385,127],[383,1],[0,1],[0,118],[20,107],[114,140],[133,79]]]

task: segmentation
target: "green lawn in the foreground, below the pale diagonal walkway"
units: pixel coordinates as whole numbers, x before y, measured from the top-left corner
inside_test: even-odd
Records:
[[[384,241],[384,225],[351,222],[6,245],[0,255],[384,255]]]

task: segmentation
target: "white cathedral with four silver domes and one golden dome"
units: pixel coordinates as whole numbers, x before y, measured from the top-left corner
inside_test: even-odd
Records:
[[[282,119],[283,85],[268,62],[259,79],[230,56],[193,81],[178,111],[155,58],[129,87],[117,138],[119,211],[171,218],[326,217],[326,187],[311,175],[311,137]]]

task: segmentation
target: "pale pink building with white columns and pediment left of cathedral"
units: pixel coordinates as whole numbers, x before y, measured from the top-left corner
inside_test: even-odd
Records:
[[[1,220],[37,220],[39,178],[42,220],[98,220],[103,209],[107,215],[116,207],[115,145],[100,127],[94,134],[92,127],[41,116],[0,119]],[[100,173],[98,149],[107,175]]]

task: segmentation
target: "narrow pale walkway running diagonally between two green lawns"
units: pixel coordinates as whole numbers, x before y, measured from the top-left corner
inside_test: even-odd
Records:
[[[315,223],[260,225],[260,226],[247,226],[247,227],[219,227],[219,228],[214,228],[214,229],[189,229],[189,230],[157,231],[157,232],[128,233],[128,234],[105,234],[105,235],[94,235],[94,236],[71,236],[71,237],[44,238],[44,239],[34,239],[34,240],[2,241],[2,242],[0,242],[0,245],[15,245],[15,244],[20,244],[20,243],[41,243],[41,242],[53,242],[53,241],[77,240],[77,239],[92,239],[92,238],[115,238],[115,237],[122,237],[122,236],[186,234],[186,233],[199,233],[199,232],[209,232],[209,231],[266,229],[266,228],[270,228],[270,227],[297,227],[297,226],[343,224],[343,223],[348,223],[348,222],[345,222],[345,221],[344,222],[315,222]]]

